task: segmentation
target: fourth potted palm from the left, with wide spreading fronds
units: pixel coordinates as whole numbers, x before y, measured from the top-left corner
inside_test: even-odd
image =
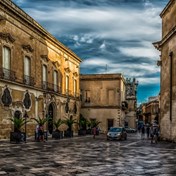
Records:
[[[74,123],[77,123],[76,119],[72,119],[72,117],[65,118],[65,120],[63,120],[63,123],[68,126],[67,131],[64,132],[64,136],[73,137],[72,126]]]

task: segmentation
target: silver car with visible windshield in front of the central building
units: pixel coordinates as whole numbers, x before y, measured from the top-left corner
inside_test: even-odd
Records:
[[[127,140],[127,133],[123,127],[111,127],[107,133],[107,140]]]

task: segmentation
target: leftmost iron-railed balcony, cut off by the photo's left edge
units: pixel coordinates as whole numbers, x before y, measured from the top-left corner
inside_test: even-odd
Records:
[[[0,78],[9,81],[15,81],[15,72],[6,68],[0,68]]]

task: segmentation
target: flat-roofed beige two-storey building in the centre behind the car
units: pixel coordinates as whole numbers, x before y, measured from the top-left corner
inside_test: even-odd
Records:
[[[100,121],[106,132],[112,126],[124,126],[125,79],[121,74],[80,75],[81,114]]]

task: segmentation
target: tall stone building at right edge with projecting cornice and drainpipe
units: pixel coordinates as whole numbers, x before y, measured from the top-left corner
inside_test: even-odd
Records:
[[[170,0],[160,14],[162,39],[153,43],[161,52],[160,129],[163,139],[176,141],[176,1]]]

